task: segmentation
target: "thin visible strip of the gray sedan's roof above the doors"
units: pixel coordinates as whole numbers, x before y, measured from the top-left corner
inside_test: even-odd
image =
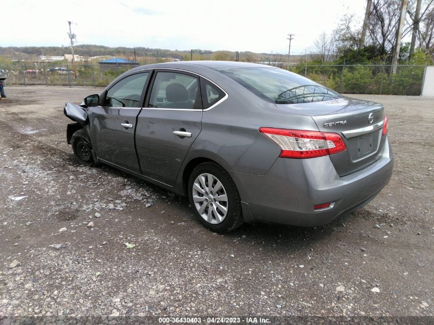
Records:
[[[137,67],[134,70],[139,70],[143,68],[146,69],[187,68],[188,66],[206,67],[216,71],[236,69],[236,68],[274,68],[263,64],[234,62],[234,61],[180,61],[180,62],[150,64],[150,65]]]

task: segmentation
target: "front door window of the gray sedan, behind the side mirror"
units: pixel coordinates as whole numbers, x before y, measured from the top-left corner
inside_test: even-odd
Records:
[[[112,86],[105,97],[106,107],[141,107],[140,98],[149,72],[142,72],[122,79]]]

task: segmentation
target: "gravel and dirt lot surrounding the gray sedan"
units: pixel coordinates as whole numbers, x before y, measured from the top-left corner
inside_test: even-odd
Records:
[[[433,98],[354,96],[385,105],[395,154],[366,207],[323,227],[222,236],[184,198],[77,163],[63,106],[99,90],[5,91],[0,316],[434,315]]]

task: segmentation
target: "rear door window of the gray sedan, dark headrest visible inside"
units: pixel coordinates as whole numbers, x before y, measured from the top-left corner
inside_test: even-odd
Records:
[[[149,107],[201,109],[197,78],[178,72],[157,72]]]

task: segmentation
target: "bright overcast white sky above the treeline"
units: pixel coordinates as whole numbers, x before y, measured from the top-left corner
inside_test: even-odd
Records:
[[[68,7],[65,7],[67,4]],[[68,21],[77,44],[170,50],[288,53],[330,34],[347,12],[362,24],[366,0],[47,0],[7,1],[0,46],[68,46]]]

